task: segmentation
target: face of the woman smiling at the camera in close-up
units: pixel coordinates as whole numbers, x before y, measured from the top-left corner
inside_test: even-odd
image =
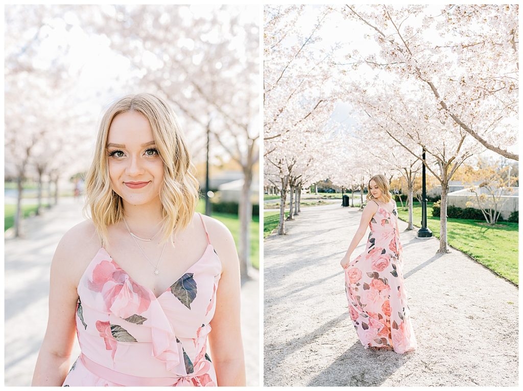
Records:
[[[159,202],[163,161],[147,118],[137,111],[120,113],[107,138],[109,177],[113,191],[131,205]]]

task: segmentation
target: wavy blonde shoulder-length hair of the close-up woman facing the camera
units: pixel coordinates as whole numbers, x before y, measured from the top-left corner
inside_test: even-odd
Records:
[[[181,133],[174,112],[153,94],[127,95],[113,103],[100,122],[96,138],[95,155],[85,179],[86,203],[84,213],[93,220],[96,233],[105,247],[108,243],[107,227],[123,218],[123,202],[112,190],[109,177],[107,138],[112,120],[121,113],[137,111],[151,125],[156,149],[164,167],[164,180],[160,187],[162,203],[162,242],[173,232],[185,229],[195,213],[200,197],[200,186],[195,166]]]

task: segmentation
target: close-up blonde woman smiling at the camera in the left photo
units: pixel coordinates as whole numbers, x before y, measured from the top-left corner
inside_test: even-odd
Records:
[[[195,213],[192,170],[163,100],[129,95],[107,110],[86,178],[91,218],[52,261],[33,385],[245,385],[236,248]]]

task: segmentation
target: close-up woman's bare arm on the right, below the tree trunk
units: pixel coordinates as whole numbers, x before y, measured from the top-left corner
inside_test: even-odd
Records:
[[[240,326],[240,262],[231,232],[207,218],[209,237],[222,262],[209,345],[219,386],[245,386],[245,359]],[[257,358],[255,358],[257,360]]]

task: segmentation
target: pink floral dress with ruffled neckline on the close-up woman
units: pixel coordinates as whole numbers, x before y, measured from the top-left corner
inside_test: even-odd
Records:
[[[78,284],[82,353],[63,386],[217,385],[206,347],[221,262],[201,221],[205,252],[158,297],[98,251]]]

